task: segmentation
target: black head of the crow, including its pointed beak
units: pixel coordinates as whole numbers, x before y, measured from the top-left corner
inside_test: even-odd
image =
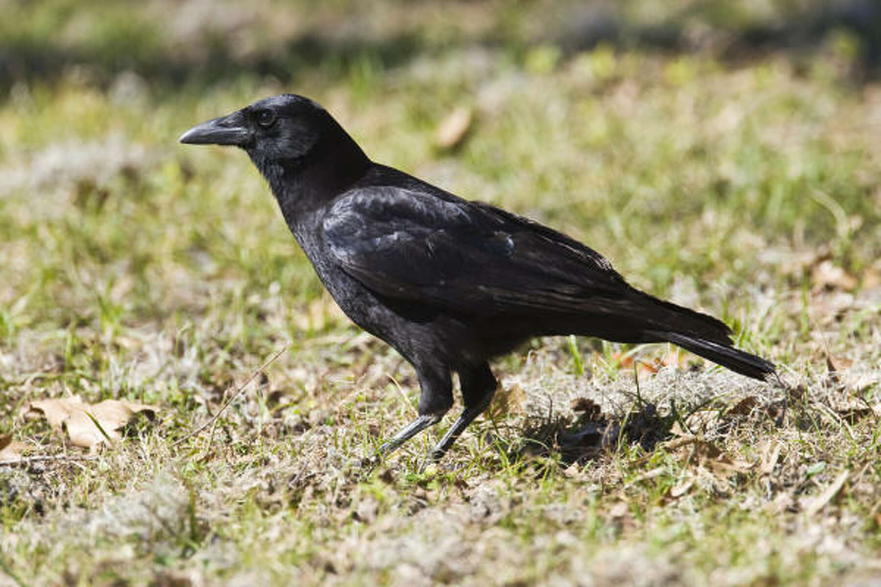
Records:
[[[296,94],[280,94],[232,114],[203,122],[181,135],[181,143],[241,147],[274,191],[282,179],[315,174],[313,183],[332,187],[363,172],[368,159],[328,112]],[[333,174],[333,177],[330,176]]]

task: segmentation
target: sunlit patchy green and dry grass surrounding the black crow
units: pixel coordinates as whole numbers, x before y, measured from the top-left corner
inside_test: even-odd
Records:
[[[338,3],[292,9],[266,39],[248,21],[242,56],[211,45],[233,25],[192,16],[198,42],[181,48],[163,5],[126,21],[123,57],[115,9],[107,31],[74,23],[49,42],[70,3],[11,3],[4,42],[44,69],[6,71],[0,103],[0,432],[59,458],[0,465],[0,584],[877,580],[881,90],[852,75],[858,39],[731,62],[572,50],[530,28],[540,4],[466,4],[458,29],[422,4],[383,4],[398,19],[384,27]],[[263,53],[338,22],[367,23],[358,48]],[[241,152],[174,142],[283,90],[328,106],[375,160],[551,224],[725,319],[780,366],[785,409],[780,390],[670,365],[663,346],[542,339],[493,365],[507,406],[440,465],[426,454],[448,420],[374,464],[415,413],[411,368],[338,312]],[[459,106],[472,126],[441,150]],[[668,366],[639,366],[655,359]],[[21,416],[70,395],[159,418],[89,454]],[[652,450],[623,433],[566,445],[583,398],[617,421],[651,402],[669,434]]]

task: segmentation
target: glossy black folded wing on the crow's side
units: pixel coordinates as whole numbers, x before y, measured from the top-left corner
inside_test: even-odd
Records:
[[[370,290],[457,312],[603,312],[598,300],[633,291],[574,239],[455,197],[361,188],[334,203],[322,228],[329,253]]]

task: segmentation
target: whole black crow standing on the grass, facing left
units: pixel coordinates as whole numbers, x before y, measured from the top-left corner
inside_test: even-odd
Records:
[[[533,336],[667,341],[747,377],[775,373],[721,321],[634,289],[573,238],[374,163],[310,99],[263,99],[180,141],[244,149],[343,312],[413,365],[418,418],[383,452],[440,422],[455,371],[464,410],[432,451],[440,459],[492,400],[487,360]]]

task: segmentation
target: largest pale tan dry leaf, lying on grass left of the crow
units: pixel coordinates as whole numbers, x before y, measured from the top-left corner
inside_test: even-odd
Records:
[[[71,444],[91,449],[121,438],[120,429],[138,414],[152,418],[156,412],[156,407],[122,400],[94,405],[78,400],[39,400],[31,402],[26,417],[42,414],[52,428],[67,432]]]

